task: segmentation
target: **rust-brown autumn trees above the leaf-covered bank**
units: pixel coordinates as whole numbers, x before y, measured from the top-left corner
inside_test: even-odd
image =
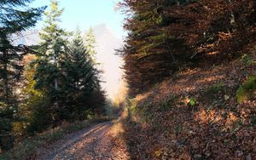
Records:
[[[176,71],[224,63],[255,39],[253,0],[123,0],[125,78],[135,95]]]

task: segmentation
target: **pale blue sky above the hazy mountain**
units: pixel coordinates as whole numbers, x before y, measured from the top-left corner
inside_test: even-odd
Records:
[[[119,0],[59,0],[64,13],[61,27],[73,31],[77,26],[82,31],[90,26],[106,24],[117,37],[125,36],[122,23],[124,15],[115,10]],[[32,7],[49,6],[49,0],[35,0]],[[38,28],[42,22],[38,23]]]

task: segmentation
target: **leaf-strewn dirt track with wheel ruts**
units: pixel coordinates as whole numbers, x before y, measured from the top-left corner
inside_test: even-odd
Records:
[[[110,132],[112,127],[113,122],[99,123],[90,129],[71,134],[50,146],[45,151],[48,153],[38,159],[129,159],[126,151],[114,142],[116,138]]]

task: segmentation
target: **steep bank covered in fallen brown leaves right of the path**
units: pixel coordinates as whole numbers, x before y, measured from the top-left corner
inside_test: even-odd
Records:
[[[124,136],[132,159],[256,159],[256,79],[250,99],[238,103],[236,95],[256,75],[256,43],[244,53],[182,71],[130,100]]]

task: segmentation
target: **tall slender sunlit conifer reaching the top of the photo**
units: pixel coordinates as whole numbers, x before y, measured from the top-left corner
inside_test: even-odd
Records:
[[[61,91],[60,61],[67,49],[67,32],[58,26],[61,22],[63,9],[59,9],[59,2],[52,0],[50,10],[45,12],[46,20],[43,31],[40,32],[42,42],[39,44],[35,61],[37,69],[35,73],[35,88],[49,96],[49,113],[52,122],[59,119],[58,111],[61,110],[61,102],[58,96]]]

